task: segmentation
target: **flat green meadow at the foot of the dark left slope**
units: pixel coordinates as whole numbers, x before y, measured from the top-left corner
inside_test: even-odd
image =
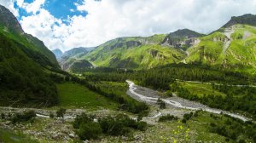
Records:
[[[65,108],[116,109],[117,104],[78,83],[57,84],[60,106]]]

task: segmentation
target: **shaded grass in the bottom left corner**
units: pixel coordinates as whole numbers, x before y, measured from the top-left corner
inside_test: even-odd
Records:
[[[37,140],[32,140],[25,134],[20,132],[15,133],[14,131],[0,129],[0,142],[4,143],[37,143]]]

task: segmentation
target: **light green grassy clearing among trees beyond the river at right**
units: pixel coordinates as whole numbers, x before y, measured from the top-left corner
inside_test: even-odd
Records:
[[[224,93],[219,92],[216,89],[212,89],[212,85],[204,83],[188,83],[188,82],[178,82],[184,89],[188,89],[191,94],[197,94],[200,97],[204,94],[215,94],[225,96]]]

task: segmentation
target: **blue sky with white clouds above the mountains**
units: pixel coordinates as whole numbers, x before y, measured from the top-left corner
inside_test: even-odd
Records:
[[[256,0],[0,0],[24,31],[49,49],[95,47],[116,37],[188,28],[217,30],[231,16],[256,14]]]

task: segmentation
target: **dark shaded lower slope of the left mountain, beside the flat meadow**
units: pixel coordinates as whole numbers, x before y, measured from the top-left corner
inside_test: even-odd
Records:
[[[55,84],[22,49],[26,47],[0,33],[1,106],[56,104]]]

